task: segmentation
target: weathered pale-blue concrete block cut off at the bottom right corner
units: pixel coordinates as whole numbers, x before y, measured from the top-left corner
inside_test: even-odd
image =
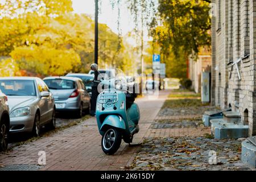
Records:
[[[250,140],[255,140],[255,137],[247,138],[242,142],[242,162],[250,167],[256,168],[256,145]]]

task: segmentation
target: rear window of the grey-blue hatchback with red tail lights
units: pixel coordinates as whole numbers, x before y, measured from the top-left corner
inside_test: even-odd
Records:
[[[75,82],[72,80],[63,80],[63,79],[52,79],[44,80],[49,89],[53,90],[66,90],[66,89],[75,89]]]

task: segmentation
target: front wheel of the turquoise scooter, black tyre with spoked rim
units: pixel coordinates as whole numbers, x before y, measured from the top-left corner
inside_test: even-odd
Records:
[[[101,139],[101,148],[107,155],[114,154],[122,142],[122,133],[120,130],[108,129]]]

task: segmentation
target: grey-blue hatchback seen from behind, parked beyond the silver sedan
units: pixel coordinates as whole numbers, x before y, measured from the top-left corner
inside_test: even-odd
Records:
[[[80,78],[46,77],[43,79],[55,98],[56,111],[72,111],[81,118],[90,111],[90,95]]]

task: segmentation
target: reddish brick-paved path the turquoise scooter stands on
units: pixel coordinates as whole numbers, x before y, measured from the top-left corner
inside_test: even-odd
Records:
[[[154,118],[168,96],[160,92],[156,100],[147,96],[137,99],[141,110],[141,131],[135,135],[134,143],[142,141]],[[139,146],[129,147],[122,143],[113,156],[101,150],[101,136],[96,119],[90,118],[79,125],[42,137],[34,142],[14,147],[7,154],[0,154],[0,166],[10,164],[38,164],[38,152],[46,152],[46,165],[41,170],[121,170],[134,159]]]

